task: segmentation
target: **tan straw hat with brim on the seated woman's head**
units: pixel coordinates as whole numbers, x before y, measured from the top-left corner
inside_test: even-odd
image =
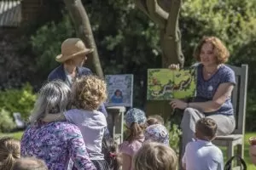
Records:
[[[67,38],[61,44],[61,54],[56,56],[56,61],[64,62],[68,59],[72,59],[73,57],[79,54],[90,54],[93,52],[92,48],[86,48],[84,42],[82,42],[79,38]]]

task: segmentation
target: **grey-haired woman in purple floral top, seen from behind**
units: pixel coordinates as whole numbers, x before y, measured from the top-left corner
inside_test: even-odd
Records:
[[[69,109],[71,90],[61,81],[46,83],[38,99],[28,127],[21,139],[21,156],[35,156],[45,161],[49,169],[67,169],[70,159],[73,169],[96,169],[91,163],[79,127],[69,122],[44,122],[45,115],[63,113]]]

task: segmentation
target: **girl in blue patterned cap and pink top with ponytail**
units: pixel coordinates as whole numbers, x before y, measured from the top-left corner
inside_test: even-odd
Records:
[[[131,160],[134,154],[142,147],[144,141],[144,129],[146,127],[146,116],[144,111],[133,108],[125,114],[125,126],[128,137],[120,144],[122,153],[122,169],[131,170]]]

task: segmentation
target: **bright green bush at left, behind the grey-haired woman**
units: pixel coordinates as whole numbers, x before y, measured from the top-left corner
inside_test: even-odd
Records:
[[[14,112],[20,112],[24,120],[30,116],[35,100],[36,94],[33,94],[29,83],[21,89],[0,91],[0,109],[8,111],[11,115]]]

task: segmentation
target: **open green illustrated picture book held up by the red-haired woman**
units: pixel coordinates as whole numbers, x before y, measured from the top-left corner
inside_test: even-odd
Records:
[[[148,69],[148,100],[185,99],[196,93],[195,68],[172,71]]]

